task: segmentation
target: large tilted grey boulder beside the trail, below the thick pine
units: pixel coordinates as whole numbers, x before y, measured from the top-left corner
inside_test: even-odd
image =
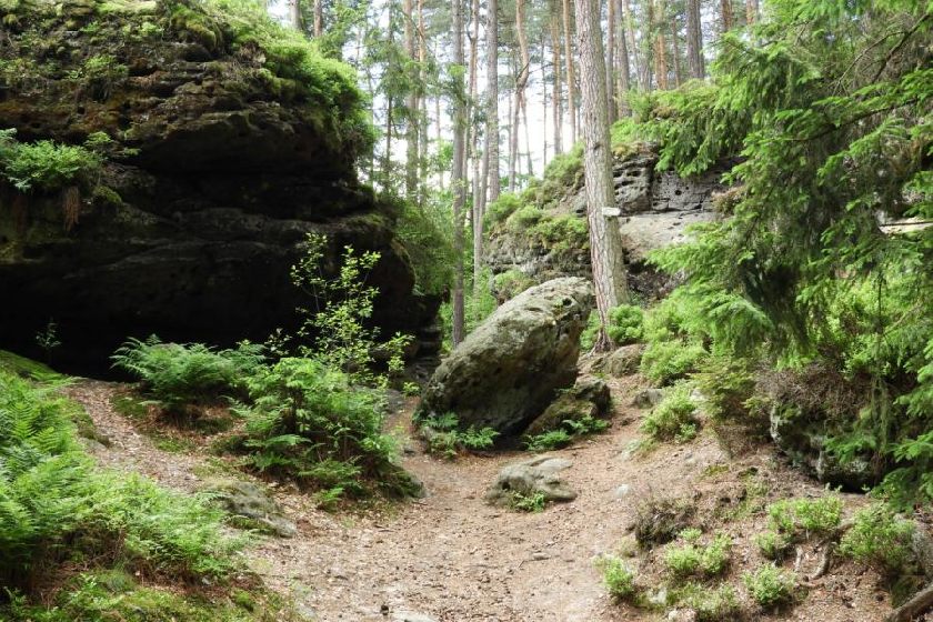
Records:
[[[573,387],[580,333],[593,308],[592,285],[554,279],[500,307],[434,372],[422,417],[454,413],[463,428],[521,434]]]

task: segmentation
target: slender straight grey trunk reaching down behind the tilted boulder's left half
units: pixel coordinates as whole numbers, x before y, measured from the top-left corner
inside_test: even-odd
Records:
[[[466,202],[466,170],[464,167],[464,132],[466,131],[465,93],[463,84],[463,0],[453,0],[453,334],[455,348],[465,337],[463,307],[463,209]]]

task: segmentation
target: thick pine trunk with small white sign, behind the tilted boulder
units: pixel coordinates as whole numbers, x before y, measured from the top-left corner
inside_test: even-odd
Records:
[[[583,102],[583,174],[590,224],[590,259],[600,315],[596,349],[606,350],[612,341],[605,327],[609,311],[628,299],[625,265],[622,258],[618,219],[604,215],[615,209],[612,183],[612,148],[606,116],[605,66],[600,31],[598,0],[575,0],[576,32]]]

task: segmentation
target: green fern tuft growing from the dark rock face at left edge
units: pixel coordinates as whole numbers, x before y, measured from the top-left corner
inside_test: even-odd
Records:
[[[0,130],[0,175],[20,192],[47,192],[90,179],[103,165],[103,157],[86,147],[51,140],[19,142],[16,130]]]

